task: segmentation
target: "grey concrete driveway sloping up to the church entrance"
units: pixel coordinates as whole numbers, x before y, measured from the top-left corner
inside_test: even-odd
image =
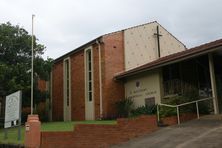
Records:
[[[112,148],[222,148],[222,115],[160,128]]]

